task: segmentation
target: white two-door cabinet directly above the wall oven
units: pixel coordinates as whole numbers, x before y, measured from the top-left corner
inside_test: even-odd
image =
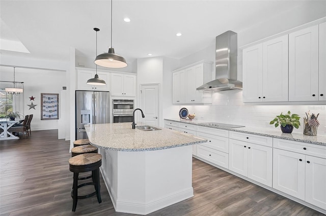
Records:
[[[136,95],[136,76],[112,73],[111,95],[134,97]]]

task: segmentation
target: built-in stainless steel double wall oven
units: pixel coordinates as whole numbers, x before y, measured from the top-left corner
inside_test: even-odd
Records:
[[[132,122],[134,100],[112,100],[112,122]]]

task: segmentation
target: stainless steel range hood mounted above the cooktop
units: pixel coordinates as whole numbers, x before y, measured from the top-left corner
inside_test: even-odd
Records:
[[[216,37],[215,80],[196,88],[199,91],[242,89],[237,80],[237,34],[227,31]]]

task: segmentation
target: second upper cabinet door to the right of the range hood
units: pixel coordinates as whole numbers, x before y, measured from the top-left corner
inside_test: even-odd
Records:
[[[263,101],[288,101],[288,36],[263,43]]]

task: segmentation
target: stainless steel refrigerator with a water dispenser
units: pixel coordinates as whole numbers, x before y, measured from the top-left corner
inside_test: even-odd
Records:
[[[110,123],[110,92],[84,91],[75,92],[75,138],[86,139],[85,125]]]

